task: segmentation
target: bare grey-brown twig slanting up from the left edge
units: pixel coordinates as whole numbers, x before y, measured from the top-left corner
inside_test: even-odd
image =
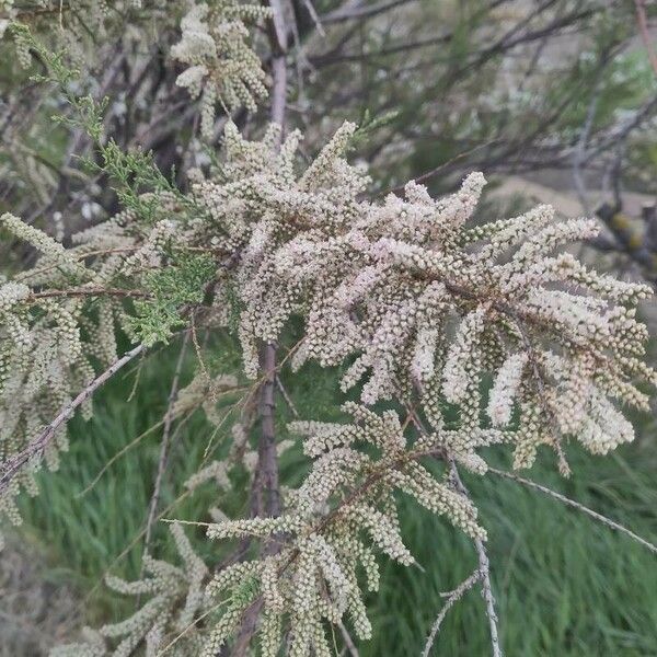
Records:
[[[89,400],[91,395],[108,381],[122,367],[141,354],[143,348],[143,345],[137,345],[116,360],[102,374],[99,374],[91,383],[89,383],[89,385],[87,385],[72,402],[64,406],[59,412],[59,415],[57,415],[57,417],[24,450],[0,464],[0,493],[7,488],[13,476],[23,465],[25,465],[25,463],[36,454],[43,453],[46,447],[55,438],[57,430],[73,416],[76,410]]]

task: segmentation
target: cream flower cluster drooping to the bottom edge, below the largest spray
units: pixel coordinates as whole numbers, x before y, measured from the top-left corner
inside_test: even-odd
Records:
[[[437,514],[445,514],[471,537],[484,538],[476,523],[476,510],[446,481],[438,481],[419,461],[430,454],[428,446],[407,446],[397,415],[382,415],[347,403],[354,424],[296,422],[290,430],[306,436],[304,450],[313,466],[302,486],[290,492],[286,514],[280,518],[227,520],[208,528],[211,539],[285,535],[285,549],[275,556],[239,563],[221,570],[208,586],[208,596],[219,601],[234,599],[245,580],[260,583],[265,618],[261,626],[266,657],[278,654],[280,627],[290,616],[289,655],[331,655],[325,621],[351,619],[359,638],[369,638],[371,627],[362,602],[356,572],[362,566],[367,587],[379,584],[371,543],[403,564],[413,556],[400,535],[395,491],[412,495]],[[366,456],[357,445],[369,443],[378,456]],[[414,447],[418,447],[414,450]],[[362,530],[369,534],[364,540]],[[242,599],[243,611],[252,598]],[[235,610],[235,615],[239,616]],[[209,639],[204,655],[212,655],[228,638],[231,622],[221,624]]]

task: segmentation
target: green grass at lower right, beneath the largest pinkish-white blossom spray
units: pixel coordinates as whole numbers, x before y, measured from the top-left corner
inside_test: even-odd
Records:
[[[573,480],[531,472],[587,506],[657,541],[655,446],[622,456],[572,458]],[[470,479],[488,529],[493,586],[507,655],[657,655],[657,557],[630,538],[515,482]],[[445,522],[410,504],[408,544],[424,568],[387,565],[372,599],[376,638],[364,655],[419,655],[449,591],[476,566],[474,550]],[[471,591],[449,612],[434,655],[489,654],[483,600]],[[391,649],[392,647],[392,649]]]

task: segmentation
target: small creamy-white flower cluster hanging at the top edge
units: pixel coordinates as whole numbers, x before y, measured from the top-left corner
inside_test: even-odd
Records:
[[[211,137],[215,104],[229,108],[244,106],[255,112],[257,101],[267,96],[265,72],[249,46],[244,22],[269,16],[257,4],[221,0],[194,5],[181,22],[182,38],[171,48],[174,59],[186,64],[177,78],[192,97],[201,95],[201,134]]]

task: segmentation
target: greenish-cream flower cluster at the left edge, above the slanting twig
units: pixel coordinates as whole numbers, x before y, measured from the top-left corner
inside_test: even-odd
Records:
[[[94,299],[92,312],[85,303],[88,286],[102,288],[123,273],[125,258],[118,254],[93,267],[84,265],[81,256],[85,250],[107,249],[104,238],[91,249],[87,244],[65,249],[9,214],[0,217],[0,228],[39,254],[33,268],[0,285],[0,456],[4,462],[39,436],[93,380],[96,364],[107,367],[116,360],[115,324],[125,322],[126,309],[120,299],[112,297]],[[114,243],[111,241],[111,246]],[[123,246],[128,243],[135,240],[120,242]],[[68,296],[70,288],[82,293]],[[89,417],[91,403],[82,411]],[[67,445],[66,431],[60,430],[46,447],[44,456],[50,470],[58,468],[58,452]],[[0,493],[0,517],[21,521],[14,498],[21,488],[36,491],[33,477],[39,466],[41,460],[34,459]]]

